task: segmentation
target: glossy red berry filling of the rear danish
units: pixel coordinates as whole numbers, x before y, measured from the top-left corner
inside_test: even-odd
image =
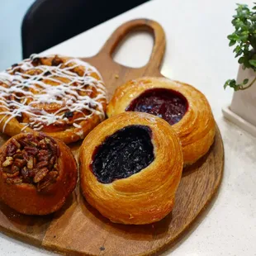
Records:
[[[188,103],[181,93],[164,89],[149,89],[136,97],[126,111],[146,112],[159,116],[172,126],[180,121],[187,112]]]

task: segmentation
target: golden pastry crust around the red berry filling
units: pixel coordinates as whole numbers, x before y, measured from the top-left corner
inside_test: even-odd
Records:
[[[168,78],[138,78],[116,88],[107,106],[107,116],[114,116],[130,105],[135,97],[149,88],[167,88],[180,92],[187,98],[188,109],[181,121],[173,125],[183,145],[184,164],[193,164],[210,149],[216,124],[206,97],[187,83]]]

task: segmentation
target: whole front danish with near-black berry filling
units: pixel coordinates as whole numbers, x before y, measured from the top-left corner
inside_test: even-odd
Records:
[[[147,113],[125,112],[103,121],[80,149],[83,196],[117,223],[148,224],[168,215],[182,170],[173,128]]]

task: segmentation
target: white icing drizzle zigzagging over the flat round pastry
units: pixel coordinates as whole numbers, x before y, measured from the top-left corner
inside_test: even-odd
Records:
[[[55,58],[55,55],[45,57]],[[61,56],[58,55],[58,57],[62,59]],[[2,115],[0,123],[7,117],[2,132],[9,121],[21,116],[22,113],[29,116],[29,121],[22,123],[24,125],[22,130],[28,126],[33,130],[41,130],[44,126],[68,123],[69,119],[64,117],[64,112],[67,111],[83,114],[73,121],[72,125],[77,129],[82,127],[79,122],[87,120],[92,115],[100,116],[101,120],[104,118],[101,100],[106,98],[105,86],[102,80],[90,76],[93,72],[102,79],[97,69],[80,59],[69,59],[58,66],[39,64],[35,67],[32,62],[36,58],[44,58],[44,56],[31,55],[30,59],[25,59],[21,64],[13,65],[12,68],[0,73],[0,84],[2,82],[7,85],[6,88],[0,86],[0,115]],[[68,64],[71,66],[67,66]],[[83,75],[80,76],[78,73],[70,71],[76,67],[83,67]],[[16,69],[17,72],[12,74]],[[23,69],[23,72],[34,69],[39,70],[40,73],[20,73],[18,69]],[[69,83],[60,81],[61,78],[67,78]],[[56,85],[44,83],[41,81],[43,79],[56,83]],[[96,91],[96,97],[79,93],[92,92],[92,89]],[[36,93],[34,94],[32,90],[35,90]],[[20,96],[17,95],[19,92]],[[11,99],[9,99],[10,96]],[[26,104],[26,102],[28,103]],[[43,107],[34,107],[36,104],[47,105],[50,103],[58,104],[58,110],[49,113]],[[90,114],[85,115],[84,110],[88,110]],[[78,134],[82,135],[81,130],[78,130]]]

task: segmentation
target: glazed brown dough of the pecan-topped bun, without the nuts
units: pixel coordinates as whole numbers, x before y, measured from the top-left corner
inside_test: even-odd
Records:
[[[38,132],[32,132],[38,135]],[[77,164],[68,146],[60,140],[55,140],[59,146],[59,157],[57,159],[59,175],[55,183],[38,191],[32,183],[7,183],[7,174],[2,169],[7,146],[13,138],[19,140],[21,133],[13,136],[2,145],[0,149],[0,199],[12,209],[26,215],[46,215],[59,210],[64,205],[66,198],[76,186],[78,178]]]

